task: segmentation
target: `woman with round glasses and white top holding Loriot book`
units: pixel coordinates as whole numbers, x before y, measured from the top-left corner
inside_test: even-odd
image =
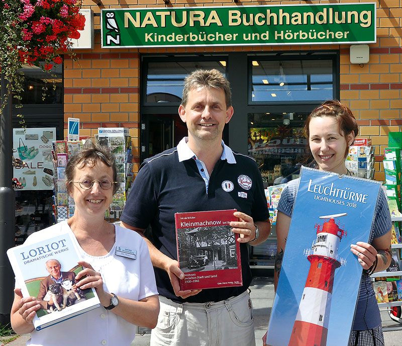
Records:
[[[97,146],[84,149],[70,158],[65,175],[67,192],[75,202],[74,215],[32,234],[26,243],[71,231],[83,258],[78,264],[84,267],[75,277],[76,286],[93,287],[103,306],[36,331],[32,319],[40,302],[37,297],[23,298],[16,288],[13,329],[18,334],[31,333],[27,345],[70,345],[72,340],[86,345],[130,345],[136,325],[155,327],[159,300],[143,238],[105,220],[119,188],[114,157]],[[118,251],[119,246],[125,252]]]

